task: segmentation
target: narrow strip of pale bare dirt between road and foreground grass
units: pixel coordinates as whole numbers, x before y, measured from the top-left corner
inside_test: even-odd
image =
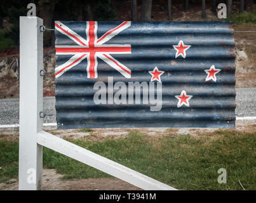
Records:
[[[200,134],[212,133],[219,128],[95,128],[90,131],[84,129],[57,129],[56,127],[44,127],[44,131],[64,139],[79,139],[86,136],[91,141],[100,141],[106,138],[121,138],[127,136],[131,130],[140,131],[148,136],[175,136],[179,134]],[[229,131],[256,132],[256,121],[236,121],[236,129]],[[0,129],[0,141],[18,141],[18,128]]]

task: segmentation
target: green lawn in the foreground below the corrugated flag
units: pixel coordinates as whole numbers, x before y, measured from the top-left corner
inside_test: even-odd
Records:
[[[131,131],[125,138],[71,140],[151,178],[183,190],[256,189],[256,133],[220,130],[191,136],[147,136]],[[90,166],[44,148],[46,168],[64,178],[110,177]],[[17,177],[18,143],[0,142],[0,181]],[[227,184],[219,184],[219,168],[227,170]]]

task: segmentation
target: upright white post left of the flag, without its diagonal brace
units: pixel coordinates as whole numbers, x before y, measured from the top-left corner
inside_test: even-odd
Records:
[[[37,133],[43,129],[43,20],[20,16],[20,141],[19,190],[40,190],[43,147]]]

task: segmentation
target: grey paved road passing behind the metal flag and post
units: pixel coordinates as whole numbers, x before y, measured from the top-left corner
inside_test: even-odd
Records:
[[[56,122],[55,97],[44,98],[44,123]],[[19,99],[0,100],[0,125],[18,124]],[[256,88],[236,89],[236,116],[256,117]]]

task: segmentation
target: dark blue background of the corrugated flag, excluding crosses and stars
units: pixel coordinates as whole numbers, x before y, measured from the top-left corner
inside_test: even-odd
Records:
[[[86,41],[86,22],[61,22],[73,30],[72,35]],[[97,22],[100,39],[123,22]],[[87,23],[87,27],[88,27]],[[89,31],[90,32],[90,31]],[[76,36],[78,34],[79,36]],[[56,47],[77,45],[72,36],[55,30]],[[79,38],[80,39],[80,38]],[[186,57],[178,56],[173,45],[182,40],[191,45]],[[86,42],[85,42],[86,43]],[[100,58],[95,79],[88,78],[85,58],[56,78],[56,110],[58,128],[132,128],[132,127],[202,127],[234,128],[235,126],[235,66],[234,38],[229,22],[131,22],[104,44],[130,44],[131,54],[111,56],[131,70],[126,78]],[[57,51],[58,52],[58,51]],[[58,55],[57,67],[73,55]],[[206,81],[206,69],[215,65],[221,71],[217,81]],[[108,77],[114,83],[149,82],[154,67],[165,71],[161,75],[162,108],[150,111],[149,104],[95,104],[95,82]],[[158,81],[154,81],[157,83]],[[176,95],[185,90],[192,95],[189,107],[178,108]],[[141,96],[142,100],[142,96]]]

